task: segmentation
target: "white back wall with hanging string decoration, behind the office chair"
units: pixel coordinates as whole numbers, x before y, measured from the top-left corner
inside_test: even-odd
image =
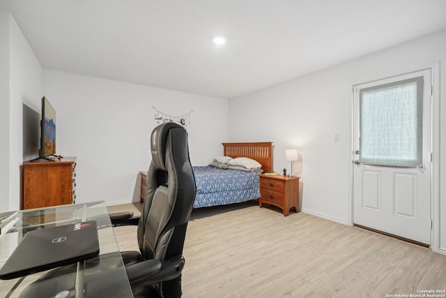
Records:
[[[221,155],[228,140],[229,102],[197,94],[43,70],[45,96],[56,110],[56,151],[77,156],[77,202],[138,200],[137,174],[151,161],[155,110],[194,110],[189,133],[193,165]]]

